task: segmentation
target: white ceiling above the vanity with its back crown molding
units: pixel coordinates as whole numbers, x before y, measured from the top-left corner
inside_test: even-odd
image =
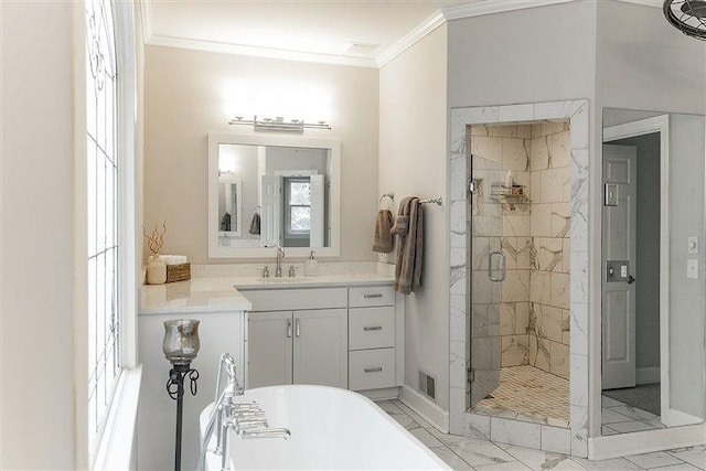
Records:
[[[143,0],[141,11],[147,44],[377,67],[460,3]]]

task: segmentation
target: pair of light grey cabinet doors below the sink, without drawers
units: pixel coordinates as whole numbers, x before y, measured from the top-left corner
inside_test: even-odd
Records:
[[[346,322],[345,309],[252,312],[247,387],[347,387]]]

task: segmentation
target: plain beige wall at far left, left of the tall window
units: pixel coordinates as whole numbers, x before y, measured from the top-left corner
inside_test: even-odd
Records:
[[[0,3],[0,468],[73,469],[69,2]]]

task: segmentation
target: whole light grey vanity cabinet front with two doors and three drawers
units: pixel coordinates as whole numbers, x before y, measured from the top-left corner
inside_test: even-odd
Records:
[[[253,303],[248,388],[319,384],[396,396],[404,308],[392,286],[239,291]]]

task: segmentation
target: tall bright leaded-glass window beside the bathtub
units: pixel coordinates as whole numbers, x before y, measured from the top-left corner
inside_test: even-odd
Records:
[[[109,0],[86,0],[88,447],[93,453],[120,375],[118,71]]]

